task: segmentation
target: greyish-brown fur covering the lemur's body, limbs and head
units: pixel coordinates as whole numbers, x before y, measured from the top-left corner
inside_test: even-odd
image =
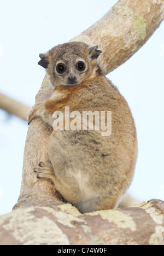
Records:
[[[101,131],[95,130],[53,131],[48,151],[52,165],[41,163],[34,171],[38,178],[51,179],[65,200],[81,212],[114,208],[130,186],[136,165],[137,136],[131,110],[118,89],[100,71],[94,59],[98,50],[91,57],[89,46],[83,43],[68,43],[52,49],[50,59],[43,65],[49,61],[47,71],[55,86],[53,72],[58,57],[54,53],[65,53],[68,63],[71,60],[70,65],[76,58],[74,55],[83,57],[87,66],[85,78],[75,86],[57,84],[48,101],[34,106],[28,123],[34,117],[42,117],[52,126],[52,113],[57,110],[64,113],[65,107],[81,114],[89,110],[112,111],[112,134],[102,137]]]

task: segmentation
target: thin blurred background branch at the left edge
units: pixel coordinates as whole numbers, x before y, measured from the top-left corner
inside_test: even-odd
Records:
[[[3,94],[0,94],[0,108],[25,121],[27,120],[27,113],[31,110],[24,104],[17,102]]]

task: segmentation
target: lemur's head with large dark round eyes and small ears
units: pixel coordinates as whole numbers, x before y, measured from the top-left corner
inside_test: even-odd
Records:
[[[81,42],[60,44],[40,54],[38,64],[46,69],[53,86],[74,86],[97,71],[98,45]]]

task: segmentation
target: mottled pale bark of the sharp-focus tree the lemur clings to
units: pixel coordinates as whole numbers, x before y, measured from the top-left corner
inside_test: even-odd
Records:
[[[99,44],[99,49],[103,50],[99,64],[107,74],[136,53],[163,19],[162,0],[120,0],[101,20],[72,41]],[[46,74],[36,103],[48,99],[53,90]],[[0,218],[2,244],[164,244],[162,201],[152,200],[133,208],[80,214],[59,200],[50,182],[38,180],[33,168],[39,161],[48,161],[51,132],[51,127],[41,119],[34,119],[30,124],[19,200],[15,211]],[[18,216],[20,219],[16,224]]]

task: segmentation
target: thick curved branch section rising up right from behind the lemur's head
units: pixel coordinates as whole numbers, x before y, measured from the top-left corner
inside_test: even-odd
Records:
[[[164,19],[163,0],[121,0],[102,19],[71,41],[98,44],[105,74],[113,71],[147,42]]]

